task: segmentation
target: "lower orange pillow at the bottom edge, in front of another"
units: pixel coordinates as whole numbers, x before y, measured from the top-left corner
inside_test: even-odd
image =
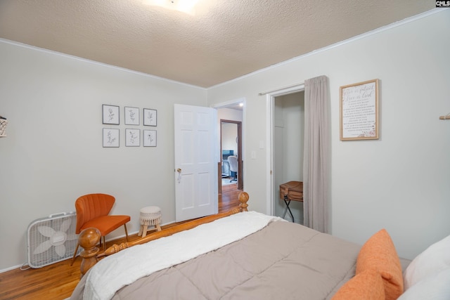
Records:
[[[383,279],[374,269],[367,269],[345,282],[331,300],[385,300]]]

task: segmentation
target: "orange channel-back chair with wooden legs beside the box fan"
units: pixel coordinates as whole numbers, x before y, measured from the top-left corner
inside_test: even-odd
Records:
[[[79,197],[75,201],[77,210],[77,228],[75,233],[79,234],[82,230],[90,227],[97,228],[101,233],[100,244],[103,240],[103,250],[105,250],[105,235],[113,230],[124,226],[125,235],[128,242],[127,223],[131,220],[130,216],[110,216],[110,210],[113,208],[115,197],[106,194],[89,194]],[[77,256],[79,244],[73,254],[72,264]]]

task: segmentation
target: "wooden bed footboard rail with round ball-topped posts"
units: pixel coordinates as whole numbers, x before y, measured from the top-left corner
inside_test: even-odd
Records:
[[[221,214],[213,214],[211,216],[205,216],[200,219],[195,219],[193,221],[188,221],[186,223],[181,223],[179,225],[169,227],[167,229],[163,229],[161,231],[156,231],[155,233],[150,233],[150,235],[146,235],[146,237],[141,237],[139,240],[134,240],[133,242],[122,242],[122,244],[113,244],[113,246],[109,247],[98,254],[100,251],[96,244],[100,241],[101,235],[100,231],[97,228],[86,228],[78,235],[78,244],[84,249],[79,256],[82,256],[82,265],[80,267],[82,277],[86,272],[94,266],[98,259],[103,256],[109,256],[111,254],[115,254],[120,252],[123,249],[132,247],[136,244],[144,244],[146,242],[150,242],[151,240],[156,240],[160,237],[167,237],[169,235],[173,235],[174,233],[179,233],[184,230],[195,228],[201,224],[210,223],[217,219],[224,218],[226,216],[231,216],[232,214],[238,214],[241,211],[248,211],[248,193],[241,192],[239,193],[239,209],[233,209],[231,211],[226,211]]]

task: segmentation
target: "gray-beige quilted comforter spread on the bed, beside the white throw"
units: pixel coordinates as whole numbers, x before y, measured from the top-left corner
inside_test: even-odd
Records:
[[[330,299],[354,275],[359,249],[295,223],[272,222],[243,240],[141,278],[113,299]],[[71,299],[82,299],[83,286],[81,280]]]

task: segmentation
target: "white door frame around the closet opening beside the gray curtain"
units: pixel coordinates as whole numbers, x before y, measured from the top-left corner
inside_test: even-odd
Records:
[[[304,83],[275,91],[266,92],[266,168],[269,170],[266,176],[266,214],[272,216],[274,214],[274,103],[278,96],[288,95],[304,91]]]

